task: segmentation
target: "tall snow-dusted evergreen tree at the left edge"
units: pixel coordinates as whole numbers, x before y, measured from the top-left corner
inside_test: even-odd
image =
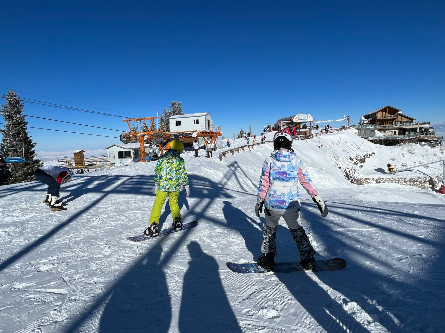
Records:
[[[11,140],[24,143],[21,145],[14,145],[20,149],[12,149],[4,152],[4,157],[21,157],[24,155],[24,159],[28,162],[24,163],[5,163],[3,160],[0,162],[0,184],[16,184],[19,182],[30,182],[36,180],[33,174],[36,169],[43,165],[40,159],[35,159],[36,152],[34,147],[37,143],[33,143],[26,125],[25,116],[21,115],[25,110],[23,103],[19,96],[12,90],[8,91],[8,95],[3,95],[6,99],[4,105],[0,105],[0,111],[3,115],[3,119],[7,125],[3,130],[0,130],[3,136],[0,148],[4,148],[6,143]],[[11,146],[8,146],[10,148]]]

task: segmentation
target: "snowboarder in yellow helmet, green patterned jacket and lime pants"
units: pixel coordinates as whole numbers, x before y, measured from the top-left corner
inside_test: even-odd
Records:
[[[167,197],[173,216],[173,229],[182,229],[181,210],[178,205],[179,190],[184,186],[186,197],[190,195],[189,176],[186,171],[184,159],[179,156],[184,150],[184,144],[178,139],[170,142],[170,148],[159,158],[154,169],[154,184],[156,197],[150,214],[150,226],[144,230],[147,236],[158,236],[159,218],[161,210]]]

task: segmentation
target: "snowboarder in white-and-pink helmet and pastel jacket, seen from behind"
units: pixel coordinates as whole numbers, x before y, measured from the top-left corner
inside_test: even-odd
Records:
[[[300,219],[300,195],[298,182],[303,186],[320,209],[321,216],[328,215],[328,207],[320,198],[303,162],[292,149],[292,136],[287,130],[274,135],[274,151],[263,163],[258,186],[255,214],[259,217],[264,205],[264,228],[259,266],[266,271],[275,267],[275,237],[280,217],[283,217],[291,231],[300,253],[300,264],[305,270],[314,266],[314,248],[303,229]]]

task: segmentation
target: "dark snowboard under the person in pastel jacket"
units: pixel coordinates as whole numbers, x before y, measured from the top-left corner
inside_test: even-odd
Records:
[[[251,274],[251,273],[292,273],[292,272],[305,272],[301,267],[300,262],[275,262],[275,269],[272,272],[267,272],[263,267],[259,266],[256,262],[251,264],[236,264],[233,262],[227,262],[227,267],[233,270],[235,273]],[[343,270],[346,267],[346,262],[341,258],[316,260],[314,264],[313,272],[331,271],[331,270]]]

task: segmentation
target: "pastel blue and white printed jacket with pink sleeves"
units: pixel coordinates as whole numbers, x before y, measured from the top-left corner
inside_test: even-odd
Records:
[[[263,164],[259,178],[258,198],[269,210],[297,210],[300,207],[298,182],[311,198],[318,194],[303,162],[287,149],[273,151]]]

